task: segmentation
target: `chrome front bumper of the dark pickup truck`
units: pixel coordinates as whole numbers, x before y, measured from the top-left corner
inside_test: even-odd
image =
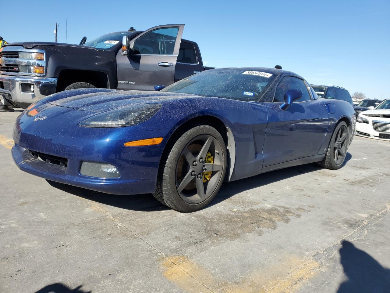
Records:
[[[55,93],[56,87],[57,79],[52,77],[0,74],[0,95],[5,99],[4,104],[27,108],[37,100]]]

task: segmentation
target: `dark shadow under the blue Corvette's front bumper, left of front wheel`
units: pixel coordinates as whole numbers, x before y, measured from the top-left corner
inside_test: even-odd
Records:
[[[101,204],[120,207],[133,211],[163,211],[169,209],[166,205],[160,204],[152,194],[137,194],[137,195],[115,195],[99,191],[93,191],[81,187],[71,186],[63,183],[58,183],[46,180],[49,184],[57,189],[71,193],[78,197],[93,200]]]

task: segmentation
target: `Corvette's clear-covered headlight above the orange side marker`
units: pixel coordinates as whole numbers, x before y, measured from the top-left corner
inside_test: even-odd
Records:
[[[129,105],[92,116],[82,122],[84,127],[122,127],[144,122],[160,110],[160,104]]]

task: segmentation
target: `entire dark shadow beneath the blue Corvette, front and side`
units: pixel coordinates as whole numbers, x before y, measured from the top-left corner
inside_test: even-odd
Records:
[[[351,154],[347,153],[346,160],[343,166],[351,159]],[[275,170],[268,173],[263,173],[253,177],[248,177],[245,179],[240,179],[232,182],[224,182],[219,193],[211,201],[209,205],[219,204],[223,200],[241,193],[243,191],[264,186],[276,181],[284,180],[291,178],[300,174],[310,173],[322,169],[315,164],[305,164],[300,166],[294,166],[290,168],[284,168],[280,170]],[[337,171],[333,171],[337,172]],[[112,205],[114,207],[119,207],[121,209],[128,209],[132,211],[162,211],[168,210],[169,207],[161,204],[156,200],[153,195],[148,194],[137,194],[137,195],[113,195],[108,193],[102,193],[99,191],[93,191],[81,187],[71,186],[63,183],[58,183],[50,180],[46,180],[54,188],[60,189],[67,193],[71,193],[78,197],[86,198],[99,202],[101,204]],[[281,183],[283,184],[283,183]],[[297,183],[297,186],[302,186],[300,183]]]

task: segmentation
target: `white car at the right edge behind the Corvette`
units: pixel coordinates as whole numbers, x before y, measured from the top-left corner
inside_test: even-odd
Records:
[[[355,134],[390,141],[390,99],[381,102],[374,110],[360,113]]]

